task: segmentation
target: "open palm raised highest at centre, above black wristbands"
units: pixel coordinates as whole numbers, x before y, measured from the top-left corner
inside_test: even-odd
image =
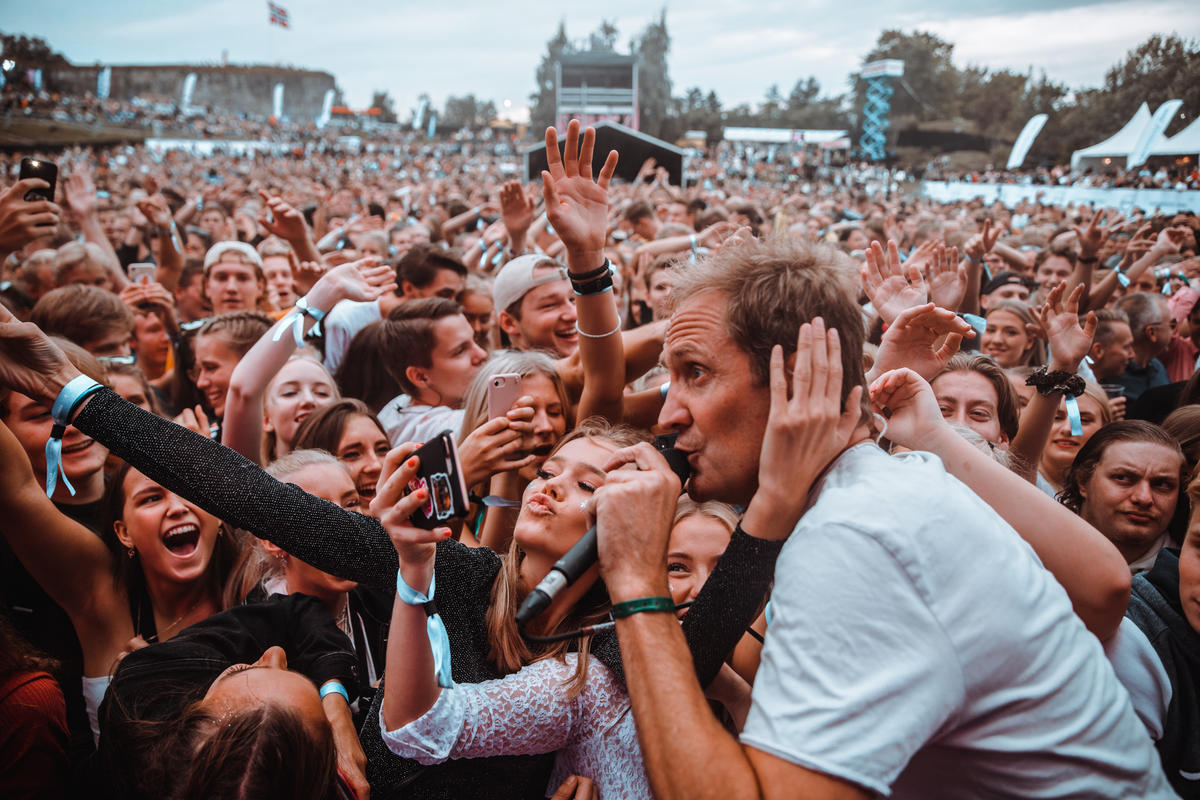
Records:
[[[570,261],[589,265],[586,269],[595,269],[604,260],[608,233],[608,184],[617,169],[617,151],[613,150],[600,168],[599,178],[592,180],[595,139],[595,130],[589,127],[583,132],[581,145],[580,122],[571,120],[566,126],[566,148],[560,157],[558,132],[546,128],[547,169],[541,173],[550,224],[566,247]]]

